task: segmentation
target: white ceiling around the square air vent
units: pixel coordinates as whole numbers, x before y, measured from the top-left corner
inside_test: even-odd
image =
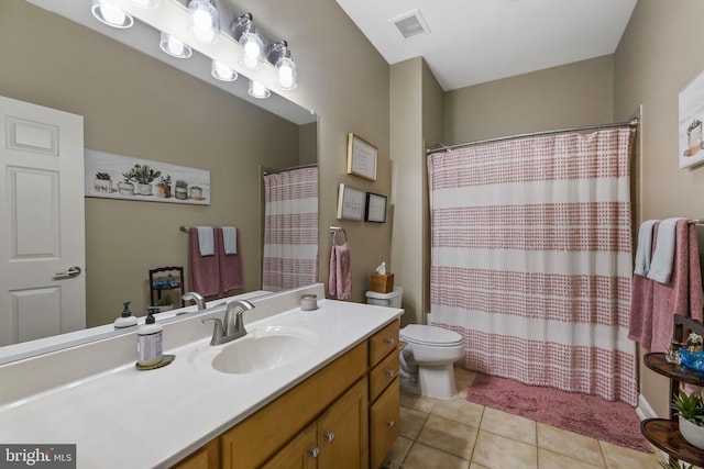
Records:
[[[444,91],[616,51],[637,0],[337,0],[389,64],[424,57]],[[394,20],[420,11],[430,32]]]

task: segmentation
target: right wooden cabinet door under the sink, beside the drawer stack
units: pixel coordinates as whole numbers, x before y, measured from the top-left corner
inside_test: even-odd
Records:
[[[358,381],[318,420],[320,469],[369,467],[366,386]]]

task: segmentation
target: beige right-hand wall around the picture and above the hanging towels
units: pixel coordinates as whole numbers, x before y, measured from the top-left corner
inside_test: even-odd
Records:
[[[639,0],[615,54],[615,119],[642,104],[641,187],[637,224],[670,216],[702,217],[704,168],[679,169],[678,94],[704,69],[698,0]],[[668,415],[668,380],[640,367],[641,394]]]

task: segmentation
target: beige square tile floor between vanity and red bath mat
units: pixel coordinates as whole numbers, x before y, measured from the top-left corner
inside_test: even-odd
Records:
[[[616,446],[466,401],[474,373],[455,370],[452,400],[402,392],[391,469],[659,469],[659,455]]]

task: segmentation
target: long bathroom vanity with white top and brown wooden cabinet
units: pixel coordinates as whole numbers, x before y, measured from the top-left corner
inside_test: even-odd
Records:
[[[304,293],[324,294],[318,284],[253,300],[249,334],[223,346],[201,320],[224,305],[175,316],[164,353],[176,359],[151,371],[134,368],[133,334],[3,365],[3,383],[53,378],[0,390],[0,440],[76,444],[78,468],[378,467],[398,434],[403,310],[320,300],[301,311]],[[219,347],[238,343],[240,357],[273,351],[222,368]]]

